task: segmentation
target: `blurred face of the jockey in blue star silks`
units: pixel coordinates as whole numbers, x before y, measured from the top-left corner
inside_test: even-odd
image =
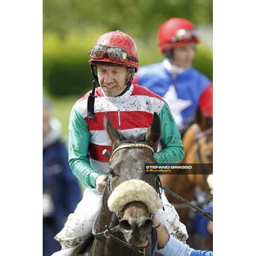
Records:
[[[195,44],[187,44],[173,50],[172,63],[177,67],[190,67],[195,57]]]

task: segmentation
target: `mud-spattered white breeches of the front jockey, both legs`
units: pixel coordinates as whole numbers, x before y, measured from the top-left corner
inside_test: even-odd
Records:
[[[163,209],[160,209],[156,217],[168,230],[169,234],[180,241],[188,238],[186,227],[180,222],[175,208],[167,200],[164,192],[161,195]],[[81,241],[85,241],[92,233],[93,221],[95,220],[102,205],[102,196],[96,190],[85,189],[82,200],[74,213],[67,218],[64,228],[55,236],[62,248],[70,248]]]

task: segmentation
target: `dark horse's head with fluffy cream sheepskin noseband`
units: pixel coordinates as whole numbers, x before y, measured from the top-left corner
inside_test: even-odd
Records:
[[[160,138],[160,119],[154,113],[151,126],[139,137],[124,137],[108,118],[106,130],[113,148],[109,166],[112,193],[108,206],[111,211],[118,212],[119,228],[125,240],[136,247],[145,247],[147,236],[151,234],[151,213],[161,207],[160,198],[153,189],[156,176],[144,174],[144,164],[155,163],[153,148]]]

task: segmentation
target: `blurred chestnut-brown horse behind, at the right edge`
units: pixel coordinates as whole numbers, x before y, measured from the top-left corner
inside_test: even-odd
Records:
[[[200,109],[196,111],[195,119],[192,125],[183,134],[182,142],[185,147],[185,157],[181,163],[197,163],[198,170],[196,173],[179,174],[179,170],[172,172],[172,175],[162,175],[161,180],[164,187],[172,189],[175,193],[182,196],[188,201],[192,201],[195,195],[195,188],[198,186],[209,196],[209,188],[207,186],[207,176],[203,173],[210,174],[212,169],[200,163],[212,163],[213,158],[213,136],[212,136],[212,122],[210,119],[205,118]],[[202,173],[202,174],[200,174]],[[190,224],[189,208],[180,204],[176,198],[167,195],[168,200],[172,204],[176,204],[177,212],[180,220],[188,227]],[[190,235],[190,234],[189,234]]]

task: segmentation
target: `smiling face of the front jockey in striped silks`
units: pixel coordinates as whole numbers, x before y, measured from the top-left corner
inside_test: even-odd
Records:
[[[126,67],[98,65],[99,85],[106,96],[114,97],[126,87],[129,72]]]

